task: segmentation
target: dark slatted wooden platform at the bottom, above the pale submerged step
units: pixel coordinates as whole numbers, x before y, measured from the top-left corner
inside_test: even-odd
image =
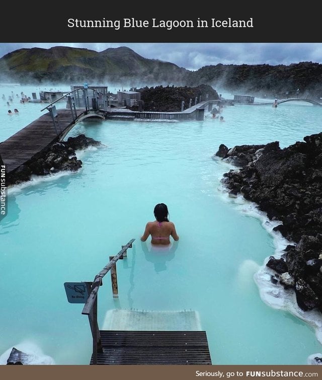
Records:
[[[100,331],[97,364],[211,365],[205,331]],[[90,364],[93,364],[93,355]]]

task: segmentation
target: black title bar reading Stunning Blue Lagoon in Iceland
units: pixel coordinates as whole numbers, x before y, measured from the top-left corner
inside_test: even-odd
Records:
[[[112,4],[112,3],[109,3]],[[147,9],[135,2],[65,9],[55,3],[19,6],[0,24],[1,42],[321,42],[319,13],[243,2]],[[36,6],[35,6],[36,7]],[[25,9],[24,9],[25,8]],[[46,8],[46,9],[44,9]],[[144,12],[143,12],[144,11]]]

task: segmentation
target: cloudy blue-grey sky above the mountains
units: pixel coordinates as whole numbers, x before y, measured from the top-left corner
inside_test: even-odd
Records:
[[[20,48],[84,47],[102,51],[127,46],[145,58],[197,70],[205,65],[322,63],[322,43],[0,43],[0,57]]]

